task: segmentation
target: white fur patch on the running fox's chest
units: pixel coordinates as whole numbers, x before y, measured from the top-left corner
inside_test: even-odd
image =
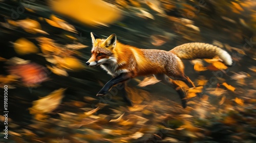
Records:
[[[118,64],[115,59],[111,59],[111,62],[101,64],[100,67],[103,68],[104,70],[108,71],[108,74],[110,74],[113,77],[116,77],[120,75],[121,73],[127,73],[127,69],[117,69]]]

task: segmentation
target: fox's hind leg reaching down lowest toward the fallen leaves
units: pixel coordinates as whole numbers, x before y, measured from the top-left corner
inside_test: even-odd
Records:
[[[167,75],[165,74],[156,74],[154,77],[158,80],[161,80],[162,83],[173,87],[179,94],[180,99],[181,99],[181,104],[183,108],[186,108],[187,106],[187,100],[186,100],[186,91],[182,87],[180,87],[174,80],[170,79]]]

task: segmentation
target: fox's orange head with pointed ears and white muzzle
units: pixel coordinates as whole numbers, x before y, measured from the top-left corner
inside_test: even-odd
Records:
[[[92,56],[86,62],[89,66],[97,66],[104,63],[115,61],[114,48],[116,46],[116,34],[111,34],[106,39],[100,39],[97,35],[91,32],[92,37]]]

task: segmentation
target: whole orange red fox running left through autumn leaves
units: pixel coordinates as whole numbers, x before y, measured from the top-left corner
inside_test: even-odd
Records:
[[[219,56],[226,65],[232,64],[231,56],[220,47],[207,43],[185,43],[176,46],[173,50],[138,49],[131,45],[125,45],[117,41],[112,34],[106,39],[101,39],[91,32],[92,56],[86,62],[88,66],[100,65],[108,74],[113,76],[108,83],[97,93],[104,96],[112,86],[124,84],[125,81],[137,77],[154,75],[177,90],[182,107],[186,107],[186,92],[174,80],[184,81],[189,87],[195,87],[194,83],[184,74],[184,65],[181,59],[203,59]],[[123,89],[124,90],[124,89]],[[132,102],[123,92],[124,100],[132,106]]]

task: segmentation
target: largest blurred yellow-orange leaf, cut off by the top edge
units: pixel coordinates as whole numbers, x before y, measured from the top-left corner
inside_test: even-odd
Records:
[[[121,11],[115,6],[100,1],[57,0],[51,1],[52,9],[88,25],[105,25],[121,17]],[[90,14],[89,14],[90,13]],[[52,20],[58,20],[53,16]]]

